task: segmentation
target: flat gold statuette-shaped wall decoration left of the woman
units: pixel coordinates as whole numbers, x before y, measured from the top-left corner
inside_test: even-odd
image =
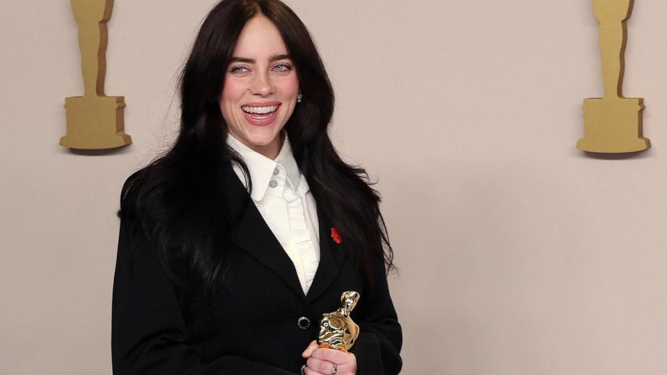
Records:
[[[65,98],[67,135],[60,144],[70,149],[113,149],[131,144],[124,133],[124,97],[104,94],[106,76],[106,23],[113,0],[71,0],[79,23],[83,97]]]

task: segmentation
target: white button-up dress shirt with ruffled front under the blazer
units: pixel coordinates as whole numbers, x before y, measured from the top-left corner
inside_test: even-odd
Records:
[[[290,141],[285,136],[275,160],[247,147],[231,134],[227,144],[245,161],[252,181],[250,197],[294,263],[301,287],[308,293],[320,263],[318,210],[306,178],[299,171]],[[242,169],[236,163],[233,169],[247,188]]]

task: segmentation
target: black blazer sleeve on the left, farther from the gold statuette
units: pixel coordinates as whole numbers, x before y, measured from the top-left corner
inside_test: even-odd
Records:
[[[113,374],[294,374],[235,356],[204,359],[187,344],[174,286],[142,231],[121,221],[113,282]]]

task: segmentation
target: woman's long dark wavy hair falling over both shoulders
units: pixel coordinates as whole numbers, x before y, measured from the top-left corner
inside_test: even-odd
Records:
[[[343,162],[331,144],[327,128],[334,90],[306,26],[278,0],[223,0],[208,14],[181,74],[179,136],[170,151],[128,179],[119,215],[131,229],[148,235],[174,281],[174,269],[185,269],[204,291],[215,291],[229,267],[224,246],[229,229],[252,204],[249,198],[238,202],[224,196],[230,174],[223,170],[231,162],[241,165],[248,181],[249,174],[227,146],[218,98],[238,36],[258,14],[281,33],[305,98],[285,126],[299,169],[318,211],[327,213],[347,248],[354,249],[352,256],[372,290],[372,274],[382,260],[386,272],[393,268],[380,197],[365,170]]]

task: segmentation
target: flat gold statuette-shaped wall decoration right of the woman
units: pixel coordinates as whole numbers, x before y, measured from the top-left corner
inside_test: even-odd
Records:
[[[642,98],[623,97],[627,28],[634,0],[593,0],[600,22],[604,97],[584,99],[584,138],[577,149],[598,153],[636,152],[651,147],[642,134]]]

